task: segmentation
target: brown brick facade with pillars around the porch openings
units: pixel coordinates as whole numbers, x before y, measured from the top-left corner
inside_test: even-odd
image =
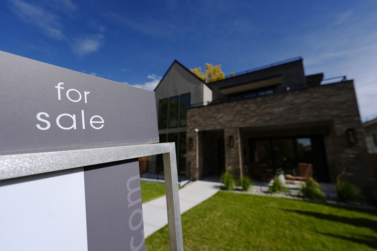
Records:
[[[253,133],[261,135],[269,127],[285,128],[293,134],[305,128],[319,130],[324,139],[331,182],[335,182],[345,168],[354,173],[350,179],[360,187],[374,185],[352,80],[189,109],[187,138],[193,138],[193,147],[187,150],[187,161],[192,163],[191,175],[196,179],[203,177],[206,156],[201,148],[205,131],[224,130],[225,168],[238,178],[241,171],[244,172],[246,137]],[[356,130],[355,144],[350,144],[346,135],[350,128]],[[198,167],[195,129],[199,129]],[[229,136],[233,136],[233,147],[229,146]]]

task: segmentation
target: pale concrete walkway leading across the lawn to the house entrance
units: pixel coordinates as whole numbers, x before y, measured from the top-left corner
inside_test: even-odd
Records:
[[[217,193],[221,183],[194,181],[179,190],[181,214]],[[143,203],[144,237],[167,225],[166,196]]]

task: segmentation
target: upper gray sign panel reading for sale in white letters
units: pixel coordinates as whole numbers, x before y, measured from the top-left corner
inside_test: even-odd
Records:
[[[158,142],[154,92],[0,51],[0,155]]]

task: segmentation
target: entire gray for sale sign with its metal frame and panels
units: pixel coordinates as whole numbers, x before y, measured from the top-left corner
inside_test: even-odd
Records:
[[[0,249],[145,250],[138,157],[163,154],[183,250],[174,143],[154,93],[0,52]]]

